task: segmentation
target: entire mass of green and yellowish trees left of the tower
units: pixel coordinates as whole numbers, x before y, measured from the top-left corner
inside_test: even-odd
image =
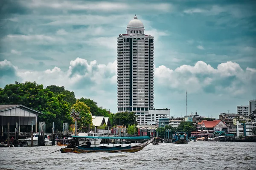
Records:
[[[81,98],[77,102],[74,92],[65,90],[64,86],[49,85],[44,88],[44,85],[36,82],[15,82],[0,88],[0,104],[24,105],[41,112],[38,122],[45,122],[47,132],[52,131],[52,122],[55,122],[55,131],[62,130],[64,122],[74,123],[70,116],[72,106],[84,117],[81,119],[81,125],[91,124],[91,116],[85,113],[109,117],[111,123],[113,118],[110,111],[99,108],[93,100]]]

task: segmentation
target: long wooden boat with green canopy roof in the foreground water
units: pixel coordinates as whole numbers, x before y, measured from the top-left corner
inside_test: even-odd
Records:
[[[150,144],[154,139],[150,139],[149,136],[136,136],[136,137],[112,137],[112,136],[73,136],[74,139],[77,138],[92,138],[92,139],[130,139],[130,140],[143,140],[141,143],[135,145],[135,146],[124,146],[118,145],[118,146],[81,146],[76,145],[75,147],[67,146],[65,148],[61,148],[61,153],[91,153],[91,152],[108,152],[108,153],[116,153],[116,152],[138,152],[140,150],[143,150],[144,147],[146,147],[148,144]]]

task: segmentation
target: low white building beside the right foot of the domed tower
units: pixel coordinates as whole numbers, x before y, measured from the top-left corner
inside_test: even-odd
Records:
[[[150,119],[149,119],[150,118]],[[158,125],[159,124],[159,119],[160,118],[170,118],[170,109],[168,110],[160,110],[160,109],[155,109],[155,110],[149,110],[148,115],[142,117],[140,116],[140,121],[146,122],[146,125]]]

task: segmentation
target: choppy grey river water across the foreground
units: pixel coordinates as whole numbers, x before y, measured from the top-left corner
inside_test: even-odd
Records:
[[[256,143],[164,143],[137,153],[51,153],[60,148],[2,147],[0,170],[256,170]]]

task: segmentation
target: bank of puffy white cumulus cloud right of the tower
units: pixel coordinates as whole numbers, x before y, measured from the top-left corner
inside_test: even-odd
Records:
[[[164,65],[155,68],[155,82],[175,91],[188,90],[190,93],[212,92],[238,96],[251,91],[256,93],[254,82],[256,69],[243,70],[235,62],[224,62],[217,69],[198,61],[194,66],[181,65],[175,70]]]

